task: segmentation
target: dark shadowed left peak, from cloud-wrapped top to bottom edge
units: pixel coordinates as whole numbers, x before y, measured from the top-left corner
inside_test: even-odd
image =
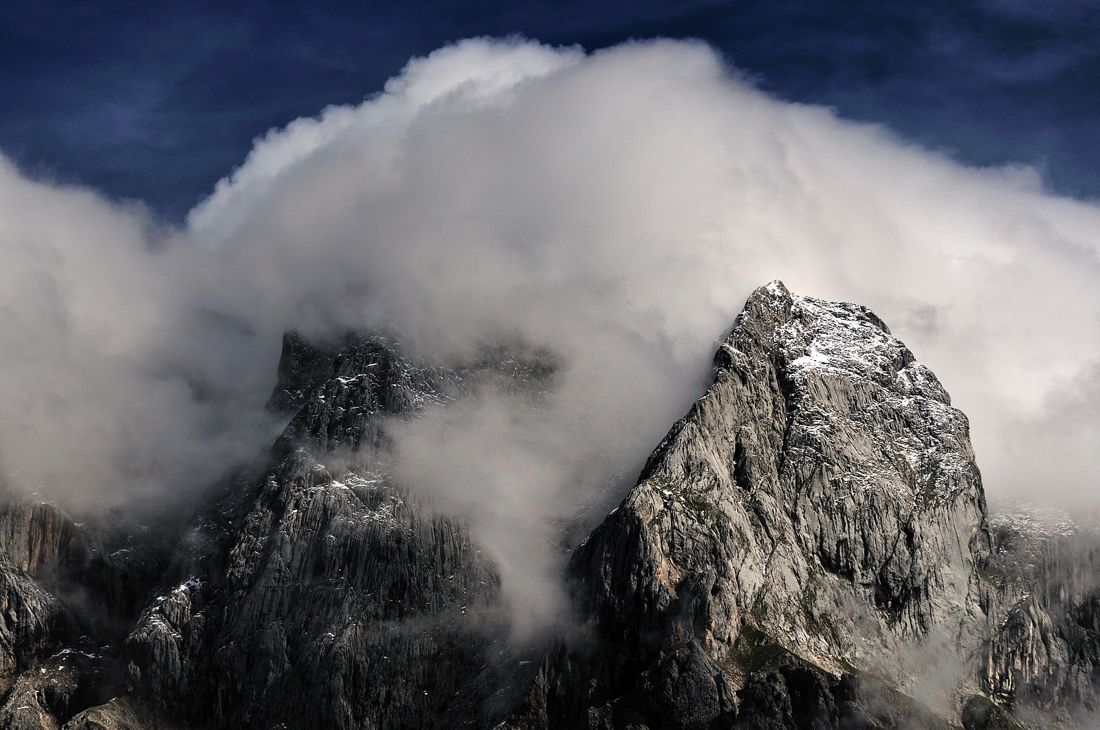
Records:
[[[538,357],[483,355],[448,369],[385,335],[288,335],[272,405],[296,413],[270,465],[196,521],[127,640],[138,695],[211,727],[460,723],[455,697],[490,663],[498,578],[461,523],[392,483],[385,428],[488,372],[550,375]]]

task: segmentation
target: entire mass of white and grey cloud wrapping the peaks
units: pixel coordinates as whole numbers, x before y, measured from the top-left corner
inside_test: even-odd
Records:
[[[284,330],[385,324],[440,358],[504,332],[557,353],[550,398],[397,428],[400,476],[537,582],[559,520],[629,486],[779,278],[870,306],[938,374],[991,499],[1088,502],[1098,243],[1100,207],[1035,170],[770,98],[703,44],[464,41],[257,139],[185,230],[0,163],[0,468],[170,499],[272,436]]]

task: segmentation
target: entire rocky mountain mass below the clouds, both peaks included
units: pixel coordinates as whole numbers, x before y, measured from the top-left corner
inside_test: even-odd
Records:
[[[553,354],[288,334],[288,425],[183,528],[6,497],[0,728],[1096,727],[1100,541],[990,518],[966,417],[878,317],[773,281],[714,366],[572,553],[565,628],[517,646],[387,428],[538,408]]]

